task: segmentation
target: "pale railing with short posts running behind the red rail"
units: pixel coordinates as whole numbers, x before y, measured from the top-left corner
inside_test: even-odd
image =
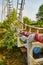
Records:
[[[24,24],[24,23],[21,23],[21,22],[20,22],[20,24],[22,24],[22,29],[26,30],[28,32],[43,33],[43,28],[27,25],[27,24]]]

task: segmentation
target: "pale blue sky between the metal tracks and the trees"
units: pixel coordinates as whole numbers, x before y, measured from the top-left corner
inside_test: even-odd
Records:
[[[13,1],[13,7],[16,8],[17,0]],[[0,20],[1,20],[1,12],[2,12],[2,0],[0,0]],[[40,5],[43,4],[43,0],[25,0],[25,7],[23,11],[23,16],[27,16],[29,19],[36,20],[36,14],[38,13],[38,9]]]

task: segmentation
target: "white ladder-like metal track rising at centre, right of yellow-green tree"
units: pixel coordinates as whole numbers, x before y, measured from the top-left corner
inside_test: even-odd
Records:
[[[17,18],[18,21],[23,22],[22,14],[24,10],[25,0],[17,0]]]

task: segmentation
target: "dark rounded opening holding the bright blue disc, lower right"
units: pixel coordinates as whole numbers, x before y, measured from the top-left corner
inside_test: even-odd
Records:
[[[35,47],[33,49],[33,57],[35,59],[38,59],[38,58],[43,58],[43,47],[40,48],[40,47]]]

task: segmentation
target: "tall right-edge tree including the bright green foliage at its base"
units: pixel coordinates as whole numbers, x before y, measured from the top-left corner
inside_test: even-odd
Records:
[[[37,17],[38,21],[32,25],[35,25],[37,27],[43,27],[43,5],[41,5],[39,7],[39,11],[36,14],[36,17]]]

